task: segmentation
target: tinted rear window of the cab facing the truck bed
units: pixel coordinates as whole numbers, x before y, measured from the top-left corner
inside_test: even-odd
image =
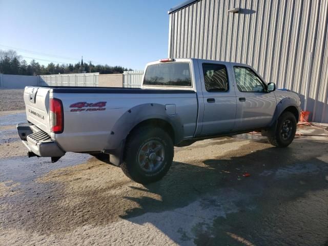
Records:
[[[160,63],[147,67],[144,85],[192,87],[189,63]]]

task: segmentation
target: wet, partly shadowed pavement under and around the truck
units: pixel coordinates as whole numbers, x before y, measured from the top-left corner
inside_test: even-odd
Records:
[[[24,120],[0,115],[0,245],[328,245],[323,128],[285,149],[256,133],[176,148],[142,186],[87,154],[27,158]]]

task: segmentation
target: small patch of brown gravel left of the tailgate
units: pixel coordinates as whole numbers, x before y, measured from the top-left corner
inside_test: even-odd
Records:
[[[25,110],[24,89],[0,89],[0,111]]]

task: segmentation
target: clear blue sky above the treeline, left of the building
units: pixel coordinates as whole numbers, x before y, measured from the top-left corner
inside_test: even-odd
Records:
[[[0,0],[0,49],[28,62],[144,69],[168,56],[168,10],[185,0]]]

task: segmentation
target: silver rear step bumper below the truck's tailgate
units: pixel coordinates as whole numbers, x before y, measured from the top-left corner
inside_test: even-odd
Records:
[[[61,157],[65,152],[59,148],[57,143],[44,131],[28,123],[17,124],[17,132],[23,144],[37,156]],[[29,154],[29,156],[31,156]]]

